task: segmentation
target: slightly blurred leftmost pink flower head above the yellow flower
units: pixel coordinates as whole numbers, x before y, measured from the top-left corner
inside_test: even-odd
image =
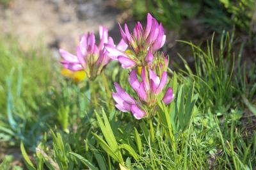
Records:
[[[63,58],[61,63],[63,66],[73,72],[84,70],[88,79],[95,79],[102,71],[102,68],[104,68],[111,59],[109,58],[109,52],[104,48],[104,44],[115,47],[113,38],[108,36],[108,29],[106,29],[106,27],[99,27],[99,36],[99,45],[95,43],[95,35],[93,32],[81,36],[76,49],[76,56],[60,49],[60,54]],[[127,49],[127,45],[121,40],[115,48],[125,50]]]

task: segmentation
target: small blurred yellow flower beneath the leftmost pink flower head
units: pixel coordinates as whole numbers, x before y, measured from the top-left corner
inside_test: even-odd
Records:
[[[72,72],[67,68],[62,68],[61,75],[72,79],[74,82],[83,81],[86,78],[86,73],[84,72],[84,70]]]

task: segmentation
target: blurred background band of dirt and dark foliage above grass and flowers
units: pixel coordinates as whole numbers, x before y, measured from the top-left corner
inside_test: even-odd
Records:
[[[50,49],[74,51],[78,37],[97,31],[99,25],[108,27],[118,41],[117,22],[128,22],[132,28],[150,12],[163,23],[168,36],[165,50],[174,56],[180,48],[184,51],[175,40],[200,43],[223,30],[234,31],[246,43],[248,56],[256,50],[254,0],[0,0],[0,4],[1,32],[19,37],[24,49],[40,42]]]

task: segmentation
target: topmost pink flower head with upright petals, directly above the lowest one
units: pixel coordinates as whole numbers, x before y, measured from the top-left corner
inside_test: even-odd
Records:
[[[166,35],[162,24],[148,13],[147,26],[143,29],[140,22],[137,22],[130,33],[127,24],[124,30],[120,26],[120,33],[129,50],[120,50],[113,45],[106,44],[106,49],[112,59],[118,60],[123,68],[132,68],[134,66],[146,66],[154,59],[153,54],[163,47]]]

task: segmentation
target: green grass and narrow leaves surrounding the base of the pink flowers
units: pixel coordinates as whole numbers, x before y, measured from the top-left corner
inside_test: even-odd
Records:
[[[74,83],[44,47],[24,52],[2,36],[0,142],[20,146],[24,169],[255,169],[255,65],[246,72],[233,39],[184,42],[195,70],[184,61],[186,70],[170,71],[172,104],[158,100],[154,118],[135,120],[113,105],[114,81],[131,91],[117,63]]]

